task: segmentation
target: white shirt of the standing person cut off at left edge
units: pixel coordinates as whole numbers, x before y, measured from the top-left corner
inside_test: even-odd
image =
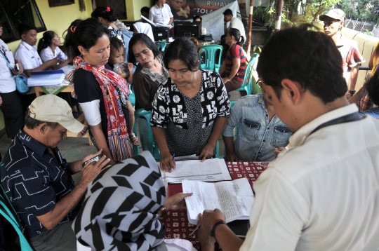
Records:
[[[4,41],[0,39],[0,50],[1,53],[5,53],[6,57],[11,64],[11,67],[15,65],[15,59],[13,58],[11,50]],[[0,54],[0,93],[11,93],[15,90],[15,79],[9,69],[5,58]]]

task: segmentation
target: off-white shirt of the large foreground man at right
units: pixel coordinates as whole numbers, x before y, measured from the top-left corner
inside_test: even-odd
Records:
[[[379,120],[327,126],[330,111],[290,137],[254,183],[245,250],[379,250]]]

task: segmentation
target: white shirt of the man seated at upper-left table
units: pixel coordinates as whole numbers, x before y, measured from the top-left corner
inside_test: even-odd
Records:
[[[15,50],[15,59],[20,61],[24,70],[35,69],[42,65],[41,57],[39,57],[36,46],[30,46],[28,43],[21,41]]]

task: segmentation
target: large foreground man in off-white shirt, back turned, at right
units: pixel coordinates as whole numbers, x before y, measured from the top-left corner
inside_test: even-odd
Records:
[[[284,29],[267,41],[257,71],[294,132],[292,148],[254,183],[245,240],[220,210],[206,210],[201,250],[214,244],[206,233],[225,251],[379,250],[379,121],[347,102],[333,40],[308,26]]]

